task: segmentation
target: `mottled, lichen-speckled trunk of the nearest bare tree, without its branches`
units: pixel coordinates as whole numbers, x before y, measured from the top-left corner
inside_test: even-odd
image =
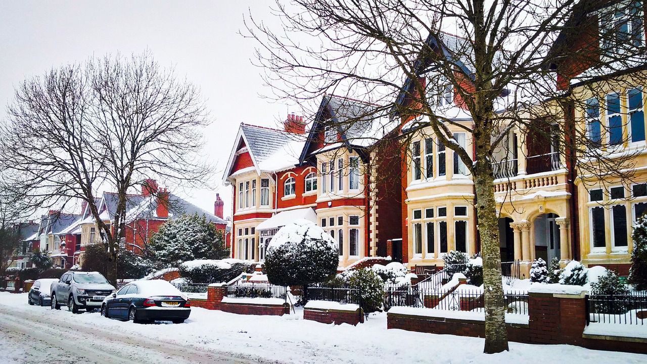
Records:
[[[478,149],[478,148],[477,148]],[[485,292],[485,348],[486,354],[508,349],[505,327],[505,304],[501,283],[501,253],[499,251],[499,224],[494,200],[494,175],[485,155],[477,153],[474,168],[476,187],[476,214],[483,255],[483,291]]]

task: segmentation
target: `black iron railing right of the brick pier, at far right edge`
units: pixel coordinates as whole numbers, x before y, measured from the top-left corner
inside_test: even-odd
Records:
[[[586,324],[645,324],[647,295],[590,295],[586,299]]]

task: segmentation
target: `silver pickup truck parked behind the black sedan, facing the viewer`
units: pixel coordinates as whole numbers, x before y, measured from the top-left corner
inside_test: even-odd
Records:
[[[101,273],[68,271],[58,282],[52,283],[52,310],[60,310],[61,304],[77,313],[100,308],[107,295],[115,293],[115,287],[108,283]]]

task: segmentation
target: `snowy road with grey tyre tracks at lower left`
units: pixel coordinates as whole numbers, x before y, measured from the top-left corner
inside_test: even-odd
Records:
[[[196,350],[169,341],[115,332],[101,326],[87,326],[65,315],[65,312],[61,312],[63,317],[58,317],[43,315],[39,311],[26,312],[11,306],[0,307],[0,363],[3,364],[45,361],[66,364],[267,362],[236,358],[233,354],[223,352]]]

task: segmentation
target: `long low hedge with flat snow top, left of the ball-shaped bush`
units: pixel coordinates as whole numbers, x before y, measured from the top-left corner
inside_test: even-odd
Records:
[[[239,259],[199,259],[184,262],[179,266],[180,277],[191,283],[228,282],[256,266],[255,262]]]

